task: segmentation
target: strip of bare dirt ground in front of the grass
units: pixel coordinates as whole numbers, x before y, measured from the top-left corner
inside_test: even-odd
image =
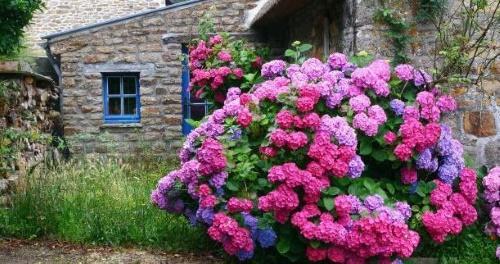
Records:
[[[56,241],[1,240],[0,263],[219,264],[210,255],[165,254],[139,249],[88,247]]]

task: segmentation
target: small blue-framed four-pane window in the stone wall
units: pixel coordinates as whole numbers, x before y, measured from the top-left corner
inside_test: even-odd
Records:
[[[104,123],[141,120],[139,73],[102,73]]]

